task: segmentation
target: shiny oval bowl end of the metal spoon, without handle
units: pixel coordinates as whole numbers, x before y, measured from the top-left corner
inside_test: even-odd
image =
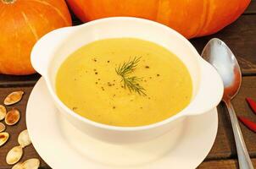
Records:
[[[241,70],[231,49],[225,42],[214,38],[203,48],[202,57],[217,69],[223,80],[225,90],[222,100],[231,100],[242,84]]]

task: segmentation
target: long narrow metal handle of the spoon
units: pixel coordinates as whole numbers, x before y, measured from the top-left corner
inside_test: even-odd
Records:
[[[240,169],[253,169],[253,164],[248,154],[248,150],[246,148],[246,144],[244,143],[242,132],[239,127],[239,123],[237,121],[237,115],[234,111],[234,108],[231,104],[231,101],[225,101],[225,105],[227,106],[228,112],[231,117],[231,124],[233,133],[235,136],[236,146],[237,146],[237,156],[239,162]]]

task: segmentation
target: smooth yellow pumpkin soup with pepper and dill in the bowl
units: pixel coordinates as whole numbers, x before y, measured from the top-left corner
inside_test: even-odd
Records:
[[[181,60],[150,41],[117,38],[82,46],[58,69],[57,95],[97,123],[142,126],[185,108],[192,79]]]

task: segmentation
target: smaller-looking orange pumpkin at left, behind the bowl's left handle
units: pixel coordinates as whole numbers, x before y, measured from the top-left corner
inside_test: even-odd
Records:
[[[0,74],[33,74],[31,48],[47,32],[70,26],[64,0],[0,0]]]

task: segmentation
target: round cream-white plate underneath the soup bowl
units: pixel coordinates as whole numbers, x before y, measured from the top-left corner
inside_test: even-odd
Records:
[[[40,79],[26,108],[32,143],[54,169],[196,168],[208,155],[218,129],[216,108],[186,118],[168,134],[143,143],[109,144],[74,128],[58,113]]]

